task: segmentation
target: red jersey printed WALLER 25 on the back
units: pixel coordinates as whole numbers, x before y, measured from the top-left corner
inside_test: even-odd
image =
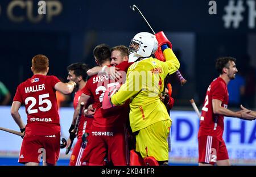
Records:
[[[35,74],[17,87],[13,101],[23,103],[27,113],[26,135],[47,136],[60,133],[60,117],[53,75]]]

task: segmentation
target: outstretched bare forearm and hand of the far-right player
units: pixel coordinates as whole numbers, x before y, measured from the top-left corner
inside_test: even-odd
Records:
[[[227,108],[224,108],[221,106],[222,102],[221,100],[218,99],[213,99],[212,100],[212,106],[213,106],[213,113],[218,114],[218,115],[224,115],[228,117],[238,117],[240,119],[245,119],[245,120],[254,120],[255,117],[250,115],[250,110],[242,110],[238,112],[233,112]]]

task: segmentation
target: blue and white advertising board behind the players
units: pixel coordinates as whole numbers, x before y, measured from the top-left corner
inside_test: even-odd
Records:
[[[10,107],[0,107],[0,127],[19,130],[10,115]],[[24,107],[20,115],[26,122]],[[196,165],[198,158],[197,131],[199,118],[193,111],[171,111],[171,152],[170,163],[180,165]],[[73,117],[73,108],[60,109],[61,136],[68,138],[68,129]],[[224,140],[232,165],[256,165],[256,121],[244,121],[225,117]],[[0,157],[15,157],[18,155],[22,138],[14,134],[0,131]],[[69,153],[70,155],[71,153]],[[68,159],[65,149],[60,152],[60,159]]]

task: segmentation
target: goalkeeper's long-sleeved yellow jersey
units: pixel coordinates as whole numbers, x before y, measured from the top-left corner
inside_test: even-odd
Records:
[[[112,96],[112,103],[116,106],[130,99],[130,125],[133,132],[170,119],[160,95],[164,90],[164,78],[167,74],[175,73],[180,63],[172,49],[165,49],[163,54],[166,62],[150,57],[131,65],[126,82]]]

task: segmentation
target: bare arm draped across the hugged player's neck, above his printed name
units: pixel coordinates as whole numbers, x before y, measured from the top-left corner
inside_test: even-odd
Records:
[[[110,74],[112,78],[115,78],[115,79],[120,79],[121,77],[121,73],[118,72],[118,70],[120,70],[119,68],[117,67],[108,67],[108,66],[95,66],[94,68],[92,69],[89,69],[87,71],[87,74],[89,76],[92,76],[92,75],[95,75],[95,74],[98,74],[98,73],[106,73],[106,74]]]

